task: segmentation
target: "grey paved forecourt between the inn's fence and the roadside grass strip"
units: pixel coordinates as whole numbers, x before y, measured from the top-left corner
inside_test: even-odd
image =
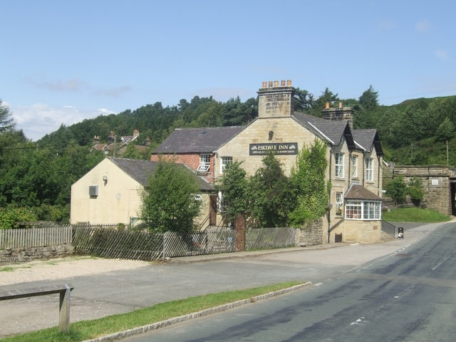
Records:
[[[166,264],[147,264],[135,269],[68,276],[58,280],[58,284],[72,284],[75,287],[71,293],[71,323],[122,314],[164,301],[281,281],[322,283],[322,286],[315,286],[309,293],[334,284],[332,295],[338,296],[341,290],[336,285],[341,276],[370,260],[394,254],[420,239],[434,235],[442,224],[400,226],[405,229],[405,239],[378,244],[333,244],[281,251],[183,257]],[[408,260],[408,257],[393,259],[396,258],[398,262]],[[31,288],[55,282],[27,281],[2,288]],[[307,291],[301,293],[307,294]],[[278,302],[285,298],[286,296],[281,297]],[[0,303],[0,338],[51,326],[58,326],[58,299],[54,296]]]

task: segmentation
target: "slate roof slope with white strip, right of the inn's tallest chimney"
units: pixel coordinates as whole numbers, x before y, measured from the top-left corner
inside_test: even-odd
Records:
[[[345,136],[349,148],[355,147],[350,126],[346,121],[325,120],[316,116],[295,112],[293,117],[309,131],[330,142],[338,145]]]

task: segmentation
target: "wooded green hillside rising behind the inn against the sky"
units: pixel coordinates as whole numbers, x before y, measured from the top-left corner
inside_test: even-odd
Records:
[[[448,163],[456,165],[456,150],[452,148],[456,142],[456,96],[417,98],[396,105],[377,105],[371,110],[363,108],[357,100],[336,98],[336,101],[354,108],[355,128],[378,129],[385,160],[405,165],[446,165],[448,157]],[[316,100],[313,105],[298,109],[318,115],[321,102]],[[90,146],[95,135],[106,141],[111,132],[122,136],[131,135],[138,129],[140,137],[136,144],[144,145],[146,138],[150,138],[155,147],[174,128],[245,125],[256,117],[257,100],[254,98],[244,103],[239,98],[219,103],[212,97],[195,96],[190,102],[180,100],[179,105],[171,107],[162,107],[157,102],[117,115],[100,115],[68,127],[61,126],[37,143],[56,145],[74,141]]]

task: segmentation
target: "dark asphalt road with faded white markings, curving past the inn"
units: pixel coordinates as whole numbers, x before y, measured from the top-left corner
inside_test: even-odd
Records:
[[[123,341],[455,341],[455,241],[445,224],[310,288]]]

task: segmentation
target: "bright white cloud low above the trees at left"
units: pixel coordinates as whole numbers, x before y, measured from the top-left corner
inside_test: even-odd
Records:
[[[63,125],[73,125],[84,119],[95,118],[106,113],[115,113],[107,109],[80,110],[71,105],[51,107],[46,103],[21,105],[10,108],[16,121],[16,129],[23,130],[26,138],[33,141],[43,138]]]

